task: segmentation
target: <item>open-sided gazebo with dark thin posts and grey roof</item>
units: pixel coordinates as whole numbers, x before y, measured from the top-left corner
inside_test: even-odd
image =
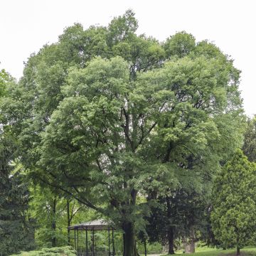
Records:
[[[114,250],[114,228],[105,220],[92,220],[87,223],[80,223],[77,225],[71,225],[69,230],[74,230],[74,247],[77,250],[79,256],[100,256],[100,255],[116,255]],[[95,241],[95,231],[105,230],[108,234],[108,251],[97,252],[97,245]],[[79,231],[85,231],[85,240],[82,244],[79,240]],[[91,246],[88,246],[88,233],[91,237]],[[81,233],[80,233],[81,234]],[[82,234],[81,234],[82,235]],[[112,247],[112,248],[111,248]]]

